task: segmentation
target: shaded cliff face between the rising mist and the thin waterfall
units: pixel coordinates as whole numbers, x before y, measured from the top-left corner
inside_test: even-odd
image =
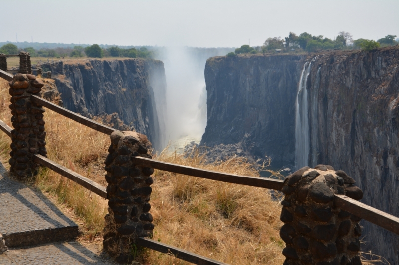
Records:
[[[245,141],[257,158],[293,162],[301,61],[296,55],[208,59],[208,121],[201,144]]]

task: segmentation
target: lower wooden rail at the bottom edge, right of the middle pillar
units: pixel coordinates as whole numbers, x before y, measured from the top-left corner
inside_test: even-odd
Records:
[[[149,238],[137,238],[137,244],[158,252],[166,253],[169,255],[173,254],[176,258],[198,265],[228,265],[227,263],[218,262],[216,260],[212,260],[186,250],[172,247],[170,245]]]

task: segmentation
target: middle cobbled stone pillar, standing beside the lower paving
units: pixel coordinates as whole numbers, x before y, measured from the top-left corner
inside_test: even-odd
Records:
[[[111,134],[105,160],[108,183],[108,214],[105,216],[104,250],[120,263],[133,260],[132,244],[137,237],[152,236],[153,217],[148,212],[151,174],[154,170],[135,166],[131,158],[151,158],[151,143],[145,135],[130,131]]]

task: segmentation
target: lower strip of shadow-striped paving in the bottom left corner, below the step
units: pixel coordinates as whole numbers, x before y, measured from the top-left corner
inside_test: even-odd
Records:
[[[77,242],[53,243],[34,247],[10,248],[0,255],[0,265],[112,265],[105,254],[83,247]]]

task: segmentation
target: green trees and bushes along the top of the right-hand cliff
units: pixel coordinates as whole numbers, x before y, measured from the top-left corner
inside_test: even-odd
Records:
[[[395,40],[396,35],[387,35],[377,41],[367,39],[353,40],[352,35],[348,32],[341,31],[334,39],[325,38],[322,35],[312,36],[307,32],[303,32],[299,36],[294,32],[290,32],[285,38],[274,37],[268,38],[262,46],[250,47],[242,45],[240,48],[230,52],[227,56],[236,56],[237,54],[256,54],[256,53],[273,53],[279,52],[317,52],[322,50],[350,50],[362,49],[371,51],[379,47],[394,46],[399,44],[399,40]]]

